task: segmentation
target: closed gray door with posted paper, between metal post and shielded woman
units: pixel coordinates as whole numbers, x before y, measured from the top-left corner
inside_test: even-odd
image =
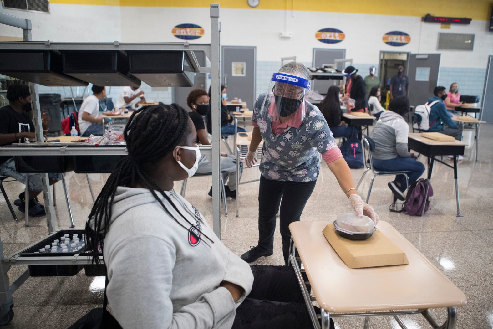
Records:
[[[226,85],[228,102],[241,98],[253,110],[257,48],[222,46],[221,50],[221,83]]]

